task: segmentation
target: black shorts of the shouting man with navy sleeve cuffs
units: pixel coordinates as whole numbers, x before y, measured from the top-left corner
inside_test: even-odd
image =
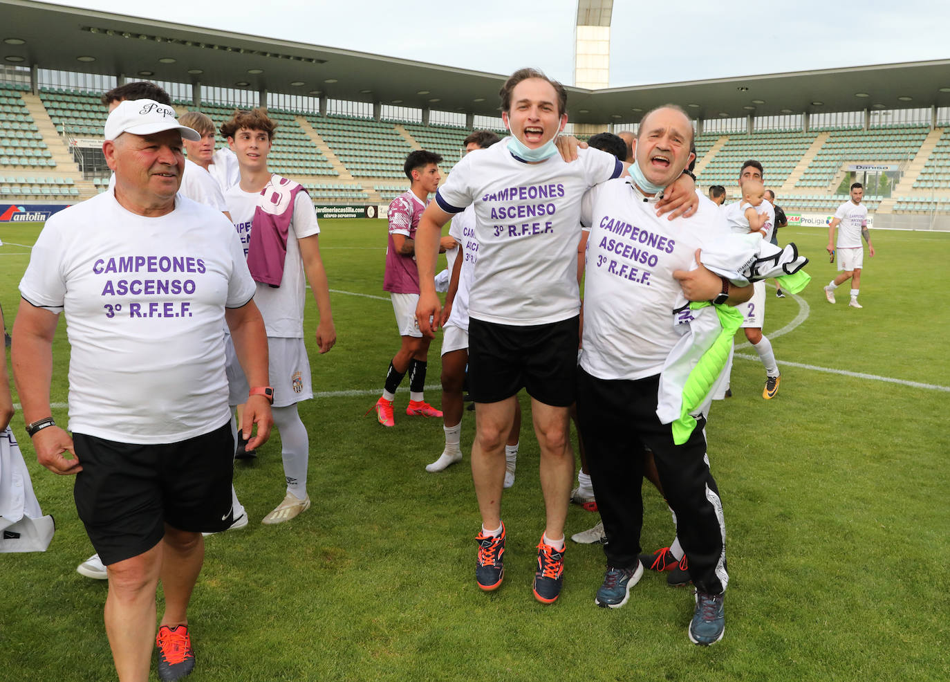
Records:
[[[577,392],[580,317],[517,327],[468,320],[468,392],[497,403],[522,388],[535,400],[570,407]]]

